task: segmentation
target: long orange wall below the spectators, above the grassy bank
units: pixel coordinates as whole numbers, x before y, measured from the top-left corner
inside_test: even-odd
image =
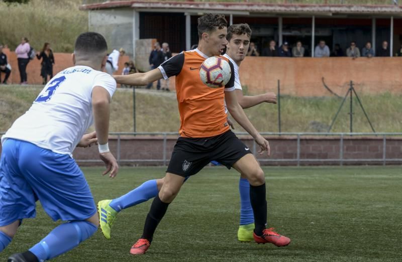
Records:
[[[12,66],[12,83],[20,82],[17,57],[14,52],[3,49]],[[72,66],[71,54],[55,53],[56,64],[53,72]],[[119,59],[121,74],[124,62],[129,57]],[[31,60],[27,67],[28,83],[41,84],[40,61]],[[402,93],[402,58],[401,57],[348,57],[330,58],[282,58],[282,57],[247,57],[240,66],[240,80],[248,87],[249,93],[277,92],[277,81],[280,80],[281,94],[297,96],[331,95],[322,83],[337,94],[343,96],[349,82],[355,83],[359,93],[391,92]],[[4,74],[2,74],[4,76]],[[154,84],[155,85],[155,84]],[[170,89],[174,90],[174,77],[170,81]]]

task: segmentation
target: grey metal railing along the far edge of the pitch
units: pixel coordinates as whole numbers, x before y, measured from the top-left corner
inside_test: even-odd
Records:
[[[275,132],[262,132],[260,133],[262,136],[275,136],[277,138],[283,138],[284,136],[287,137],[295,137],[296,143],[296,157],[295,158],[281,158],[281,159],[258,159],[258,161],[264,162],[274,162],[274,163],[295,163],[299,166],[302,163],[339,163],[339,165],[343,165],[344,163],[353,162],[353,163],[367,163],[367,162],[375,162],[376,164],[386,165],[387,163],[402,163],[402,153],[400,158],[387,158],[386,153],[386,145],[387,145],[387,138],[389,137],[400,137],[402,140],[402,133],[275,133]],[[4,133],[0,133],[0,136],[4,135]],[[251,139],[248,133],[236,133],[237,136],[247,136],[247,139]],[[119,164],[121,163],[161,163],[162,165],[166,166],[169,163],[169,159],[167,158],[170,155],[170,152],[167,152],[167,140],[168,138],[176,138],[178,137],[178,133],[176,132],[136,132],[136,133],[129,133],[129,132],[112,132],[110,133],[110,140],[116,140],[117,143],[117,154],[116,160]],[[122,143],[122,136],[155,136],[158,140],[162,141],[162,158],[161,159],[122,159],[121,158],[121,143]],[[338,137],[339,138],[339,158],[331,158],[331,159],[309,159],[309,158],[300,158],[300,140],[306,136],[321,136],[321,137]],[[382,158],[373,158],[373,159],[356,159],[356,158],[345,158],[344,157],[344,139],[345,137],[369,137],[369,138],[381,138],[382,140]],[[402,142],[401,142],[402,143]],[[253,154],[258,157],[257,153],[257,144],[253,140],[253,146],[251,148]],[[91,159],[91,160],[82,160],[76,159],[78,163],[96,163],[102,162],[98,159]]]

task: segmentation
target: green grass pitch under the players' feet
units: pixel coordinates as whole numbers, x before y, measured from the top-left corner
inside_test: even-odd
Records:
[[[146,255],[133,257],[151,201],[122,211],[106,240],[100,230],[54,261],[401,261],[401,167],[264,168],[268,225],[290,237],[286,247],[241,243],[238,175],[206,168],[189,179],[170,205]],[[95,201],[120,196],[159,178],[164,168],[122,168],[102,177],[101,168],[83,169]],[[56,223],[38,208],[9,247],[5,261],[39,241]]]

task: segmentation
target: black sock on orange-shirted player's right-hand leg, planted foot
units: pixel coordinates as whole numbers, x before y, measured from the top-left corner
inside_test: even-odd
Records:
[[[267,200],[265,183],[261,186],[250,185],[250,202],[253,208],[256,235],[261,236],[267,224]]]

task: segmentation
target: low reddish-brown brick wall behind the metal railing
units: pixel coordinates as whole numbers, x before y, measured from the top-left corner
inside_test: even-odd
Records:
[[[241,138],[242,141],[252,150],[253,140]],[[261,165],[297,165],[297,137],[268,137],[271,146],[271,157],[258,156]],[[166,139],[166,164],[170,158],[176,138]],[[301,137],[300,138],[300,165],[338,165],[334,161],[340,158],[340,137]],[[118,140],[112,137],[109,141],[112,153],[118,158]],[[163,165],[163,138],[162,137],[121,137],[120,142],[121,165]],[[74,158],[82,165],[102,165],[97,157],[97,148],[77,148],[74,151]],[[347,137],[343,139],[343,164],[383,164],[383,139],[382,137]],[[400,161],[387,162],[387,164],[402,164],[402,138],[386,138],[386,158],[400,159]],[[159,160],[148,162],[147,160]],[[289,161],[289,159],[291,161]],[[310,159],[306,162],[303,160]],[[326,159],[325,162],[314,161]],[[361,161],[360,159],[377,159],[376,161]],[[127,161],[129,160],[129,161]],[[130,162],[130,160],[136,160]],[[280,161],[275,161],[280,160]],[[282,161],[285,160],[285,161]],[[350,161],[353,160],[353,161]],[[91,161],[91,162],[82,162]]]

